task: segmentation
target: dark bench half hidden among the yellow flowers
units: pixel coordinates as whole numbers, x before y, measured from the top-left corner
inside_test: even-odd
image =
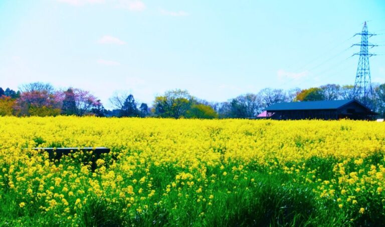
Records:
[[[89,152],[92,151],[92,165],[91,170],[95,171],[96,169],[96,160],[100,158],[100,154],[109,153],[110,148],[107,147],[35,147],[34,150],[46,151],[49,153],[50,159],[56,159],[60,161],[60,158],[63,155],[68,155],[77,151]]]

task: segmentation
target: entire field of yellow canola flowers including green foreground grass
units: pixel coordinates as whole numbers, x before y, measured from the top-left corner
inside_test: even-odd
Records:
[[[0,225],[378,226],[384,151],[368,121],[0,117]]]

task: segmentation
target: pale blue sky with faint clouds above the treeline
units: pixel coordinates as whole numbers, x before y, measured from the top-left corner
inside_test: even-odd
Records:
[[[353,84],[365,20],[379,34],[372,81],[383,83],[383,0],[0,0],[0,86],[79,87],[109,107],[124,90],[151,104],[174,88],[224,101]]]

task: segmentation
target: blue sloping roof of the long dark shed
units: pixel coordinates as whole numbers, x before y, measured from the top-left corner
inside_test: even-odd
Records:
[[[297,101],[297,102],[281,102],[270,105],[265,110],[304,110],[304,109],[338,109],[351,102],[357,102],[368,111],[371,110],[355,99],[346,100],[323,100],[323,101]]]

